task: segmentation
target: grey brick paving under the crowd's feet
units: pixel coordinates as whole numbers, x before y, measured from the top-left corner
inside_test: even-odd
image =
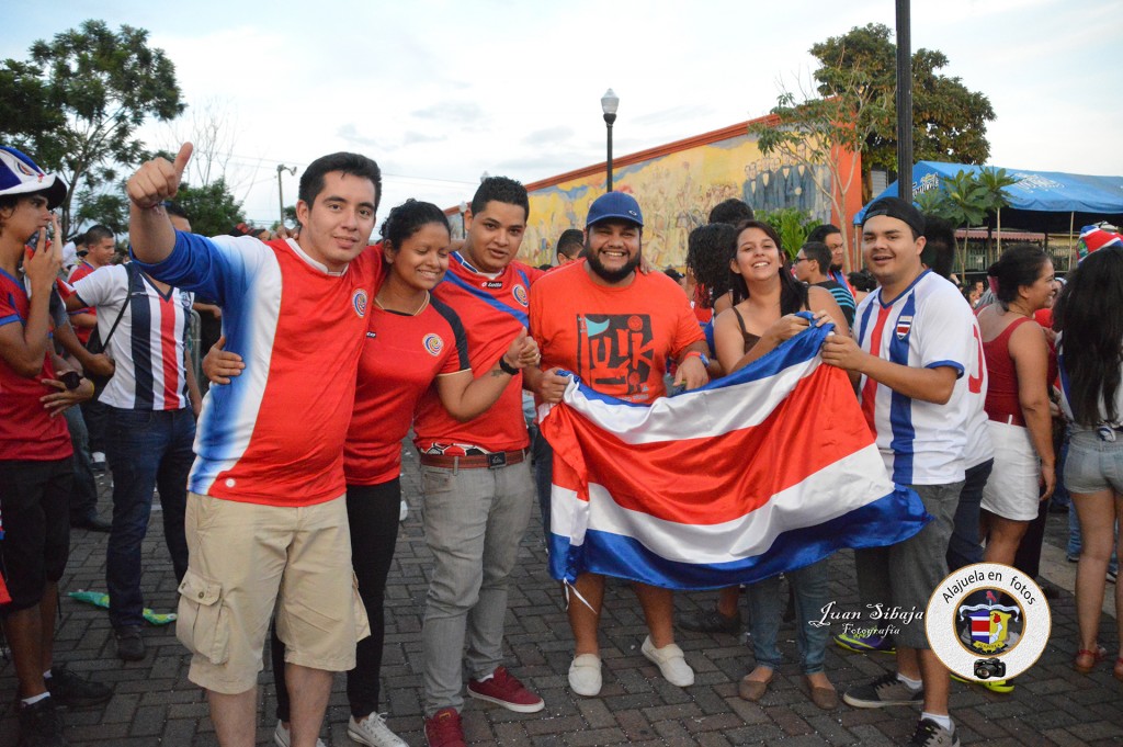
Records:
[[[108,480],[102,479],[103,483]],[[421,618],[430,556],[418,517],[420,505],[416,456],[405,459],[403,489],[411,507],[398,540],[386,591],[386,646],[383,665],[383,708],[390,726],[410,745],[424,744],[421,734]],[[108,485],[101,512],[109,514]],[[175,583],[159,521],[152,522],[145,543],[144,587],[150,607],[171,611]],[[1047,554],[1063,552],[1067,525],[1050,516]],[[697,677],[693,687],[667,684],[639,652],[646,629],[638,603],[627,584],[610,583],[601,625],[604,689],[595,699],[569,692],[566,684],[572,638],[558,584],[546,572],[546,554],[537,516],[522,543],[511,584],[508,614],[509,665],[546,700],[540,713],[520,714],[468,700],[465,732],[473,745],[578,747],[642,745],[784,744],[893,745],[906,741],[916,713],[907,708],[855,710],[842,705],[823,712],[802,690],[795,662],[793,631],[782,631],[788,664],[777,673],[759,703],[737,696],[737,683],[752,664],[743,639],[731,636],[681,634],[679,645]],[[1060,549],[1058,549],[1060,548]],[[104,589],[106,535],[76,530],[64,591]],[[1063,558],[1060,561],[1063,564]],[[831,559],[832,592],[840,609],[858,610],[850,553]],[[1063,568],[1053,565],[1061,576]],[[1046,573],[1060,584],[1065,581]],[[1070,575],[1070,574],[1069,574]],[[1068,582],[1070,589],[1070,581]],[[1114,586],[1108,585],[1108,593]],[[679,611],[712,603],[710,592],[676,595]],[[743,608],[743,604],[742,604]],[[746,610],[747,611],[747,610]],[[951,709],[964,744],[987,745],[1120,745],[1123,744],[1123,684],[1105,663],[1088,676],[1072,671],[1077,649],[1076,617],[1070,593],[1052,601],[1052,636],[1038,664],[1017,682],[1012,694],[999,695],[974,685],[952,684]],[[1102,643],[1119,646],[1114,619],[1105,616]],[[201,691],[188,682],[188,657],[172,627],[147,628],[148,656],[124,664],[113,654],[109,620],[103,610],[63,599],[56,637],[56,659],[113,687],[113,699],[101,708],[64,714],[75,747],[188,747],[217,745]],[[267,658],[267,657],[266,657]],[[885,672],[892,658],[848,654],[831,647],[827,672],[841,692],[848,685]],[[257,744],[272,745],[275,707],[268,672],[261,677],[261,720]],[[11,698],[15,674],[10,661],[0,661],[0,747],[16,744]],[[344,678],[336,686],[323,727],[328,745],[351,745],[347,737]]]

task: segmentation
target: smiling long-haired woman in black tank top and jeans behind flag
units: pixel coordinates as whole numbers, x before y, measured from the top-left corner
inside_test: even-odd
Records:
[[[737,228],[728,254],[733,307],[714,322],[714,346],[724,371],[745,367],[806,329],[812,322],[796,317],[800,311],[812,311],[815,325],[831,321],[840,334],[849,334],[830,291],[809,289],[792,276],[787,255],[772,226],[746,221]],[[822,709],[837,708],[838,695],[823,672],[827,628],[810,625],[822,617],[821,610],[830,602],[827,561],[785,575],[795,600],[797,641],[811,700]],[[779,577],[750,585],[748,598],[756,667],[741,680],[739,692],[741,698],[757,701],[783,661],[776,646],[784,605]]]

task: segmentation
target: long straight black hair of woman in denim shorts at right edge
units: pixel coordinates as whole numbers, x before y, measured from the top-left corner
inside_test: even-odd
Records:
[[[1115,395],[1123,366],[1123,249],[1103,248],[1080,261],[1053,306],[1053,328],[1068,381],[1068,402],[1081,426],[1119,422]]]

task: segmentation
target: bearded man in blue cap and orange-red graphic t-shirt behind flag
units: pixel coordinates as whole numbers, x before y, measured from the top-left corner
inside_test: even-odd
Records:
[[[590,207],[585,226],[585,262],[551,272],[531,289],[530,334],[547,371],[528,368],[528,386],[544,401],[558,402],[569,380],[557,372],[565,370],[602,394],[650,404],[666,394],[668,358],[678,363],[676,385],[704,385],[709,348],[682,289],[663,273],[636,272],[643,235],[639,203],[623,192],[603,194]],[[569,603],[576,647],[569,686],[596,695],[604,577],[583,573],[574,587],[579,599]],[[643,656],[668,682],[694,684],[694,671],[675,644],[670,590],[639,583],[634,589],[650,631]]]

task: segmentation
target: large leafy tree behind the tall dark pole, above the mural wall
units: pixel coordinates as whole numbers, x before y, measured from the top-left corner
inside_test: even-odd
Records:
[[[846,93],[848,71],[861,71],[861,80],[875,86],[886,102],[885,111],[869,120],[865,131],[862,168],[896,170],[896,45],[883,24],[855,27],[811,47],[821,67],[814,78],[821,97]],[[913,156],[916,161],[951,161],[980,164],[990,155],[986,124],[994,108],[983,93],[969,90],[959,78],[940,70],[948,57],[937,49],[917,49],[913,67]]]

